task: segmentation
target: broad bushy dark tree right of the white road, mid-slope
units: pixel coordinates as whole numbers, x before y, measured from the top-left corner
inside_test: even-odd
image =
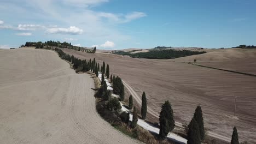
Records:
[[[121,101],[124,100],[124,85],[120,77],[116,77],[113,80],[113,93],[119,94]]]

